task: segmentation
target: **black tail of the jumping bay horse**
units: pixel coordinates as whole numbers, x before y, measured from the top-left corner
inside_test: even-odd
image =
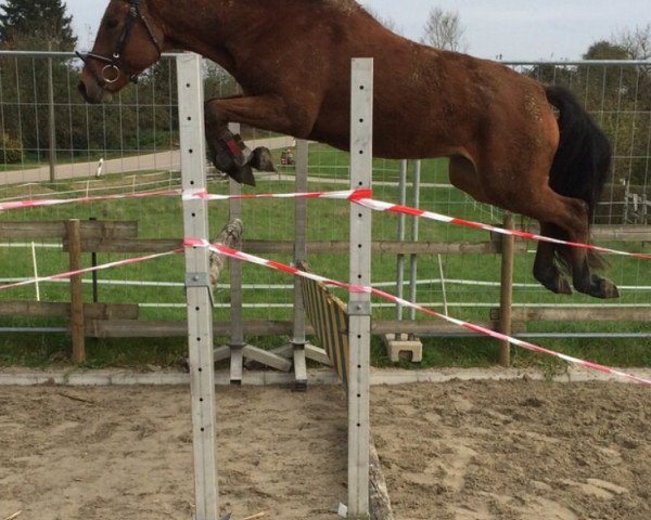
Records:
[[[559,109],[561,132],[549,184],[560,195],[585,200],[591,223],[610,172],[610,142],[570,90],[547,87],[546,93],[549,103]],[[558,252],[562,249],[559,248]],[[588,257],[592,266],[605,265],[592,251]]]

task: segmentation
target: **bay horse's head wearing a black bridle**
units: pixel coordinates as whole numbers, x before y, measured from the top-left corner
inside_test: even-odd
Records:
[[[79,92],[88,103],[106,103],[111,95],[161,57],[163,31],[141,0],[111,0],[91,52],[84,61]]]

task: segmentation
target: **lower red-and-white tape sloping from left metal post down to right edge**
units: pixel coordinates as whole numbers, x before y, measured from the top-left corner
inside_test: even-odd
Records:
[[[375,289],[373,287],[367,287],[367,286],[361,286],[361,285],[347,284],[347,283],[344,283],[344,282],[337,282],[335,280],[326,278],[323,276],[319,276],[319,275],[314,274],[314,273],[306,273],[306,272],[301,271],[301,270],[298,270],[296,268],[293,268],[291,265],[286,265],[286,264],[283,264],[283,263],[280,263],[280,262],[275,262],[275,261],[271,261],[271,260],[266,260],[264,258],[256,257],[254,255],[250,255],[250,253],[246,253],[246,252],[242,252],[242,251],[239,251],[237,249],[232,249],[230,247],[221,246],[219,244],[209,244],[207,240],[201,240],[201,239],[196,239],[196,238],[188,238],[188,239],[186,239],[184,244],[186,244],[187,247],[207,247],[212,251],[215,251],[215,252],[220,253],[220,255],[225,255],[225,256],[230,257],[230,258],[234,258],[234,259],[238,259],[238,260],[243,260],[245,262],[255,263],[255,264],[258,264],[258,265],[264,265],[264,266],[267,266],[267,268],[270,268],[270,269],[275,269],[277,271],[282,271],[284,273],[292,274],[294,276],[303,276],[305,278],[310,278],[310,280],[314,280],[314,281],[317,281],[317,282],[321,282],[321,283],[323,283],[326,285],[330,285],[330,286],[333,286],[333,287],[341,287],[341,288],[344,288],[344,289],[346,289],[346,290],[348,290],[350,292],[368,292],[368,294],[378,296],[380,298],[383,298],[385,300],[393,301],[394,303],[399,303],[399,304],[401,304],[404,307],[412,308],[412,309],[416,309],[416,310],[418,310],[420,312],[423,312],[425,314],[430,314],[432,316],[439,317],[439,318],[445,320],[445,321],[447,321],[449,323],[458,325],[459,327],[463,327],[463,328],[465,328],[468,330],[472,330],[473,333],[478,333],[481,335],[488,336],[488,337],[492,337],[492,338],[495,338],[495,339],[499,339],[499,340],[502,340],[502,341],[508,341],[511,344],[514,344],[516,347],[521,347],[521,348],[526,349],[526,350],[531,350],[533,352],[537,352],[537,353],[541,353],[541,354],[547,354],[547,355],[552,355],[554,358],[559,358],[559,359],[561,359],[563,361],[566,361],[569,363],[573,363],[573,364],[583,366],[585,368],[590,368],[592,370],[598,370],[598,372],[601,372],[601,373],[604,373],[604,374],[609,374],[609,375],[612,375],[612,376],[616,376],[616,377],[627,378],[627,379],[630,379],[630,380],[634,380],[636,382],[640,382],[640,384],[643,384],[643,385],[651,385],[651,380],[650,379],[644,379],[644,378],[636,376],[634,374],[628,374],[628,373],[625,373],[625,372],[622,372],[622,370],[617,370],[615,368],[611,368],[611,367],[608,367],[608,366],[604,366],[604,365],[592,363],[590,361],[579,360],[579,359],[573,358],[571,355],[566,355],[566,354],[562,354],[560,352],[556,352],[553,350],[545,349],[542,347],[538,347],[537,344],[529,343],[528,341],[522,341],[522,340],[513,338],[511,336],[507,336],[505,334],[497,333],[495,330],[490,330],[489,328],[485,328],[485,327],[482,327],[482,326],[478,326],[478,325],[473,325],[472,323],[464,322],[462,320],[457,320],[455,317],[447,316],[447,315],[442,314],[439,312],[436,312],[436,311],[433,311],[433,310],[427,309],[425,307],[419,306],[417,303],[412,303],[410,301],[404,300],[401,298],[393,296],[393,295],[391,295],[388,292],[385,292],[383,290]]]

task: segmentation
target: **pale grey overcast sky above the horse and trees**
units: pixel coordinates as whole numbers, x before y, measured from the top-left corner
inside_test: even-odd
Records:
[[[108,1],[64,2],[73,15],[79,47],[89,49]],[[423,36],[425,20],[434,6],[457,12],[465,29],[469,54],[488,58],[501,55],[509,61],[578,60],[591,43],[651,23],[649,0],[362,0],[361,3],[414,40]]]

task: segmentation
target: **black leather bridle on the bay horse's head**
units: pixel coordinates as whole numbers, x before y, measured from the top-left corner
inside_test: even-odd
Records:
[[[146,16],[144,14],[142,14],[142,11],[140,9],[140,0],[122,0],[122,1],[130,3],[131,6],[129,8],[129,16],[125,24],[125,28],[124,28],[122,35],[119,36],[119,39],[117,40],[117,43],[115,46],[115,51],[113,52],[113,54],[111,56],[104,56],[102,54],[97,54],[94,52],[87,52],[86,54],[81,54],[79,51],[75,51],[75,54],[77,54],[77,56],[79,56],[79,58],[84,62],[85,65],[88,65],[89,60],[97,60],[98,62],[102,62],[102,63],[106,64],[104,66],[104,68],[102,68],[101,77],[98,77],[98,79],[100,80],[100,83],[103,83],[103,84],[104,83],[114,83],[115,81],[117,81],[117,79],[119,78],[120,72],[124,73],[126,76],[128,76],[129,80],[132,81],[133,83],[138,82],[138,76],[140,75],[140,73],[133,73],[133,72],[129,70],[122,63],[122,54],[124,53],[125,47],[127,46],[127,42],[129,41],[131,31],[133,30],[133,26],[136,25],[136,22],[138,22],[138,21],[142,22],[142,25],[144,26],[146,34],[150,37],[150,40],[156,48],[156,52],[158,53],[158,58],[161,57],[161,54],[163,52],[161,49],[161,44],[158,43],[158,40],[156,38],[156,35],[154,35],[154,31],[152,30],[152,27],[151,27],[149,21],[146,20]],[[111,72],[112,74],[107,76],[107,74],[106,74],[107,72]]]

